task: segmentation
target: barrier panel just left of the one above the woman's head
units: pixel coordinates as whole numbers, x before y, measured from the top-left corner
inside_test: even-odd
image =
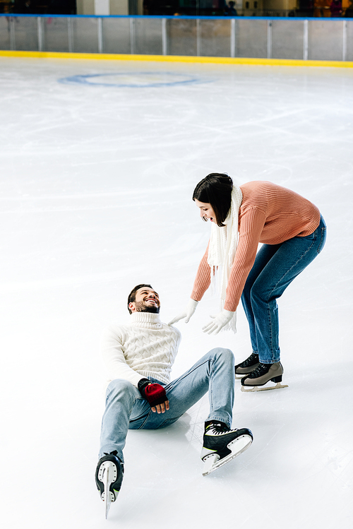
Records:
[[[197,55],[197,22],[194,19],[167,19],[167,55]]]

